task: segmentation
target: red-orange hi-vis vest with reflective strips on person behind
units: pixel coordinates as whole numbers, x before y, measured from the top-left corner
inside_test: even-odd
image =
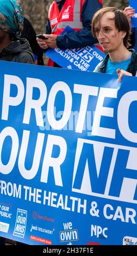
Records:
[[[67,26],[75,31],[81,31],[83,24],[81,20],[82,8],[85,0],[67,0],[59,11],[57,3],[53,1],[50,5],[48,18],[51,26],[51,34],[60,35]],[[102,4],[102,1],[99,0]],[[49,59],[48,66],[53,66]]]

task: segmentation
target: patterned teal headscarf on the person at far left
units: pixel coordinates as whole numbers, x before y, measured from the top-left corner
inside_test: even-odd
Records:
[[[18,37],[23,30],[21,0],[0,0],[0,29]]]

